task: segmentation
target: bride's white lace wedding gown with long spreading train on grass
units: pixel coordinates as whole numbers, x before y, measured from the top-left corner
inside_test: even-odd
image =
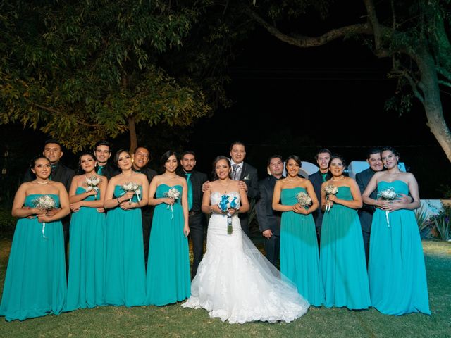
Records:
[[[230,192],[237,196],[238,192]],[[219,192],[211,193],[211,205],[221,201]],[[183,307],[204,308],[210,317],[245,323],[253,320],[291,322],[304,315],[307,300],[242,233],[240,219],[233,217],[233,233],[227,234],[227,215],[212,214],[206,253],[192,280],[191,296]]]

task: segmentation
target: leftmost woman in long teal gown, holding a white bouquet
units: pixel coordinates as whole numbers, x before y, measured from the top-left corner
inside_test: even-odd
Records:
[[[35,158],[30,167],[36,178],[21,184],[13,201],[12,215],[19,220],[0,304],[0,315],[8,321],[58,315],[66,300],[61,218],[70,213],[68,194],[62,183],[49,180],[47,158]],[[52,216],[37,208],[38,199],[44,197],[57,208]]]

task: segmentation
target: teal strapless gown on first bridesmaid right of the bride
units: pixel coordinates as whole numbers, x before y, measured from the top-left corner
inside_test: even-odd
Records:
[[[297,204],[296,195],[304,188],[282,189],[282,204]],[[307,193],[307,192],[306,192]],[[280,273],[296,284],[297,291],[313,306],[324,303],[319,270],[318,239],[313,216],[293,211],[282,213],[280,222]]]

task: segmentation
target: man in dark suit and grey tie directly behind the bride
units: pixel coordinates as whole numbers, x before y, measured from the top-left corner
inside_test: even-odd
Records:
[[[230,146],[230,157],[232,160],[232,179],[240,181],[238,186],[241,189],[245,189],[249,204],[251,200],[259,198],[259,181],[257,176],[257,169],[245,163],[246,149],[245,144],[242,142],[234,142]],[[249,237],[249,213],[239,213],[241,229]]]

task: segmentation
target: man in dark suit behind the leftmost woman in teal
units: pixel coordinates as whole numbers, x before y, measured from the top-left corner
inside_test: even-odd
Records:
[[[72,182],[72,178],[75,175],[75,171],[63,165],[60,162],[61,157],[63,157],[63,149],[61,144],[56,141],[56,139],[48,139],[44,143],[44,151],[42,154],[50,161],[51,165],[51,174],[49,179],[55,182],[63,183],[66,190],[69,192],[70,183]],[[35,176],[32,175],[31,170],[29,169],[27,173],[25,173],[25,177],[23,182],[31,182],[35,180]],[[47,213],[56,213],[56,211],[47,211]],[[70,216],[67,215],[65,218],[61,220],[63,223],[63,232],[64,232],[64,249],[66,251],[66,270],[68,269],[67,257],[68,257],[68,243],[69,243],[69,224],[70,224]]]

